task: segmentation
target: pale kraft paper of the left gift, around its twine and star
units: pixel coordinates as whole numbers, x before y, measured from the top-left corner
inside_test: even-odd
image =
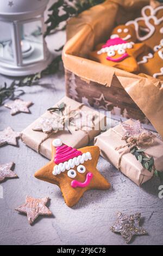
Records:
[[[81,105],[77,101],[74,101],[65,96],[53,107],[57,107],[58,104],[62,102],[65,102],[67,106],[71,107],[71,109],[76,109],[78,106]],[[57,133],[53,133],[49,138],[47,138],[44,142],[41,143],[39,148],[39,153],[41,155],[47,157],[47,159],[51,159],[51,146],[52,146],[52,141],[55,138],[60,138],[62,142],[64,142],[65,144],[73,148],[82,148],[101,132],[100,128],[103,127],[105,123],[105,115],[87,106],[83,106],[81,110],[84,112],[86,111],[87,113],[92,112],[93,115],[96,115],[95,121],[94,121],[95,129],[86,130],[87,132],[85,132],[84,130],[71,131],[72,134],[68,131],[58,131]],[[41,115],[41,117],[51,118],[52,114],[49,113],[49,111],[47,111],[43,115]],[[40,118],[36,119],[32,124],[30,124],[26,129],[24,129],[21,132],[22,141],[28,147],[34,149],[35,151],[38,151],[38,146],[40,142],[47,135],[47,133],[44,133],[42,131],[33,131],[33,128],[36,126],[36,124],[39,123]]]

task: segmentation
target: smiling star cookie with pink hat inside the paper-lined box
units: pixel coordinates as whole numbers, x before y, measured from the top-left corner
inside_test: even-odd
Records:
[[[108,66],[123,69],[129,72],[139,71],[136,57],[146,46],[135,44],[121,38],[109,39],[106,44],[97,45],[97,50],[90,53],[90,58]]]

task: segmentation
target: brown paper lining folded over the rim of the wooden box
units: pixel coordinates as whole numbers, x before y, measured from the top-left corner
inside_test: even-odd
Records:
[[[153,5],[158,2],[151,1]],[[113,76],[139,106],[163,138],[163,86],[162,81],[146,75],[105,66],[87,59],[88,53],[109,38],[117,24],[134,19],[149,0],[108,0],[73,17],[67,23],[67,43],[62,51],[65,69],[84,80],[110,87]]]

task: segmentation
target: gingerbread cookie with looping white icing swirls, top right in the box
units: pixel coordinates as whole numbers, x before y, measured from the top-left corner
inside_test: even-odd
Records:
[[[157,51],[163,37],[163,5],[156,8],[146,5],[142,8],[141,15],[142,17],[128,21],[126,25],[134,25],[137,39]]]

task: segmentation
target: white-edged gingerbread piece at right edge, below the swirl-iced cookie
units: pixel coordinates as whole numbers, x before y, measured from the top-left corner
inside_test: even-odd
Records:
[[[142,73],[163,80],[163,46],[160,45],[159,50],[154,54],[144,56],[139,66]]]

